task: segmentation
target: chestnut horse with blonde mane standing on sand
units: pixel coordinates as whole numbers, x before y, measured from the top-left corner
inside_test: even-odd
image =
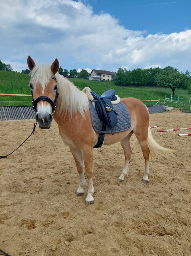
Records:
[[[87,95],[80,91],[69,80],[58,74],[58,59],[52,65],[36,66],[29,56],[27,64],[31,70],[30,87],[33,95],[33,106],[35,105],[36,121],[40,128],[50,128],[54,117],[58,124],[62,141],[69,146],[76,162],[79,173],[79,187],[76,195],[84,195],[84,187],[88,186],[86,204],[93,204],[93,147],[98,140],[98,134],[93,130],[89,111],[89,99]],[[56,99],[59,92],[57,107]],[[131,159],[131,147],[129,140],[134,133],[145,159],[145,171],[142,181],[149,182],[149,154],[161,154],[172,152],[172,150],[161,147],[153,139],[149,128],[149,112],[146,106],[136,98],[122,98],[121,101],[127,106],[131,115],[131,127],[124,132],[106,134],[104,145],[110,145],[118,141],[121,142],[125,154],[125,164],[119,181],[124,181],[129,170]],[[54,115],[53,112],[55,111]],[[85,175],[83,171],[83,160],[85,165]]]

